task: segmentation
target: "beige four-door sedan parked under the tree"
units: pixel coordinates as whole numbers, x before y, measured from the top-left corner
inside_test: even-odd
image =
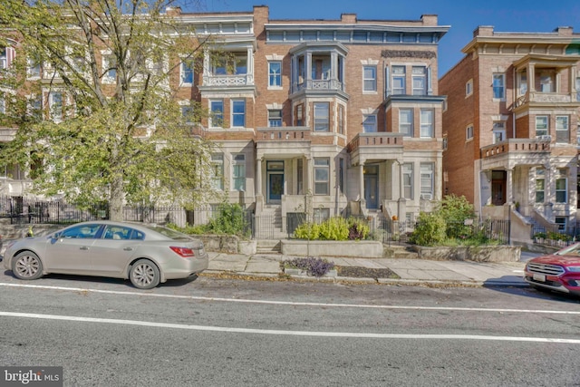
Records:
[[[20,279],[49,273],[129,278],[150,289],[208,268],[203,242],[167,227],[90,221],[6,247],[4,266]]]

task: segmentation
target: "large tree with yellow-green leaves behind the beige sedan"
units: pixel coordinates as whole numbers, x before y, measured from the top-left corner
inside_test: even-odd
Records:
[[[177,98],[179,66],[198,66],[209,38],[165,13],[174,1],[5,0],[0,23],[18,54],[0,87],[15,91],[5,119],[18,131],[0,161],[40,166],[44,195],[108,201],[111,219],[125,201],[212,198],[211,144],[183,122],[203,110]],[[43,77],[31,82],[36,64]]]

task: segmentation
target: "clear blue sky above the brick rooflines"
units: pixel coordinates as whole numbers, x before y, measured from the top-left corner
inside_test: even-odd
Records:
[[[191,4],[192,0],[181,0]],[[442,76],[463,57],[461,49],[478,25],[493,25],[497,32],[552,32],[571,26],[580,33],[580,0],[193,0],[185,12],[252,11],[268,5],[271,19],[340,19],[356,14],[359,19],[419,20],[420,15],[438,15],[449,32],[440,41]]]

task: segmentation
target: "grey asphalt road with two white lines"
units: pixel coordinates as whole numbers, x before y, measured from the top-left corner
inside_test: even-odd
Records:
[[[580,386],[580,300],[201,276],[0,273],[0,365],[75,386]]]

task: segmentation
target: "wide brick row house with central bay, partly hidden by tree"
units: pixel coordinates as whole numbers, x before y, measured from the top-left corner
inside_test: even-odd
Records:
[[[445,98],[437,58],[449,26],[436,15],[271,20],[266,5],[167,15],[213,37],[202,70],[178,66],[176,98],[184,124],[217,145],[208,179],[227,201],[274,217],[285,232],[290,213],[412,221],[440,200]],[[62,104],[58,98],[41,103]],[[188,121],[191,102],[208,117]],[[14,134],[1,131],[3,141]],[[3,192],[25,195],[30,174],[4,174]]]

